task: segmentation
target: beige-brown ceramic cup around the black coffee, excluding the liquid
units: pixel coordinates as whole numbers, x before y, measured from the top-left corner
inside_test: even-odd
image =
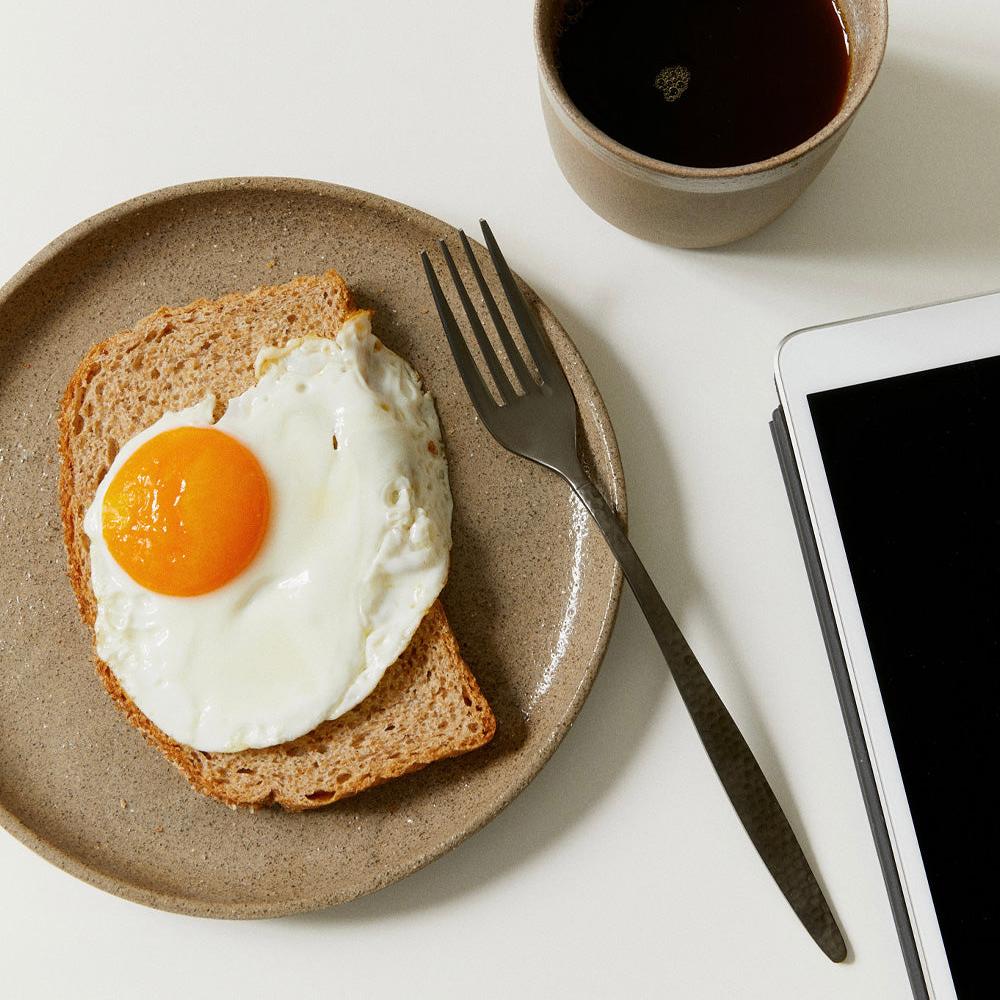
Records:
[[[837,0],[851,39],[847,97],[826,128],[793,149],[739,167],[682,167],[643,156],[591,124],[570,100],[553,51],[568,3],[536,0],[535,47],[542,111],[556,160],[595,212],[642,239],[710,247],[776,219],[826,166],[882,64],[887,0]]]

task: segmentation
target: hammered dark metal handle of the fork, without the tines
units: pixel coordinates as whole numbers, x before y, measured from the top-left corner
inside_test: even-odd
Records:
[[[618,560],[750,840],[816,943],[834,962],[842,961],[847,954],[844,938],[743,734],[702,670],[601,491],[582,469],[566,478]]]

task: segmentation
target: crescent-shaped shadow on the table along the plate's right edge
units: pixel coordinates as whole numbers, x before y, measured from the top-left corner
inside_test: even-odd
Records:
[[[643,468],[657,471],[655,481],[630,484],[630,505],[643,511],[644,521],[664,529],[665,533],[657,531],[659,557],[675,564],[680,560],[685,566],[681,577],[690,580],[675,476],[664,442],[650,432],[656,427],[651,404],[596,329],[551,289],[537,284],[535,288],[587,361],[609,411],[623,418],[615,428],[622,452],[641,455]],[[674,598],[679,606],[689,595]],[[604,667],[580,715],[542,772],[500,816],[439,858],[430,870],[339,907],[288,919],[333,924],[398,918],[474,892],[554,849],[628,770],[660,713],[668,676],[645,619],[625,587]]]

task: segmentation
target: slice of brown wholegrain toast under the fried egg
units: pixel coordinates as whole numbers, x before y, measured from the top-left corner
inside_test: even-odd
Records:
[[[84,622],[97,607],[83,517],[119,447],[167,410],[215,394],[216,417],[254,383],[258,351],[305,335],[333,337],[355,310],[336,271],[180,309],[163,308],[97,344],[70,379],[59,415],[60,507],[69,578]],[[204,753],[172,740],[108,665],[97,673],[129,722],[200,792],[233,807],[326,805],[487,743],[496,720],[462,660],[440,601],[360,705],[296,740]]]

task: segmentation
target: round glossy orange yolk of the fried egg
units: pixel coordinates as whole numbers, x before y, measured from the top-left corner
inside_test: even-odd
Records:
[[[253,453],[213,427],[150,438],[104,495],[104,540],[136,583],[194,597],[250,564],[267,530],[267,477]]]

